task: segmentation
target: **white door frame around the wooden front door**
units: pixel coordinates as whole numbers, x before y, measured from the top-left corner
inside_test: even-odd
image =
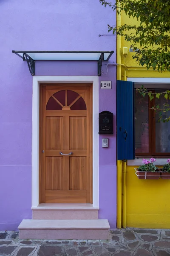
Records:
[[[99,77],[33,76],[32,93],[32,207],[39,204],[39,105],[40,83],[93,84],[93,206],[99,207]]]

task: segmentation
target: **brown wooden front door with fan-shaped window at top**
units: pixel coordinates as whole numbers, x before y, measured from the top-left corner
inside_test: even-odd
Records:
[[[40,202],[92,203],[88,84],[41,85]]]

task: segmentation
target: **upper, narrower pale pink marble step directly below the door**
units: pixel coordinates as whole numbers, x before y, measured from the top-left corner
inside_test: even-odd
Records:
[[[93,204],[39,204],[32,207],[33,219],[98,219]]]

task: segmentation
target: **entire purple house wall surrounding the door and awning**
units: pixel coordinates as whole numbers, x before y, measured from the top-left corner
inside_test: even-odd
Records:
[[[107,33],[108,23],[116,24],[116,15],[99,0],[2,0],[0,10],[0,230],[15,230],[32,217],[32,76],[11,51],[114,50],[116,62],[116,37],[98,36]],[[99,218],[116,227],[116,67],[108,71],[100,79],[112,80],[112,90],[99,89],[99,111],[113,112],[114,134],[107,136],[109,148],[101,147],[99,136]],[[96,74],[96,62],[36,63],[36,75]]]

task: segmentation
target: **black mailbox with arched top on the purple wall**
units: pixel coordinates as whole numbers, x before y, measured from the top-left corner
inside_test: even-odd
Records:
[[[113,113],[110,111],[99,113],[99,134],[113,134]]]

